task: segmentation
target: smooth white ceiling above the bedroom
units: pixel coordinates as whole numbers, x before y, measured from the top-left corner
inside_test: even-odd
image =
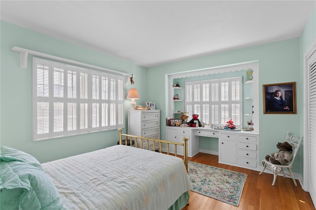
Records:
[[[315,0],[7,1],[1,20],[152,67],[299,37]]]

